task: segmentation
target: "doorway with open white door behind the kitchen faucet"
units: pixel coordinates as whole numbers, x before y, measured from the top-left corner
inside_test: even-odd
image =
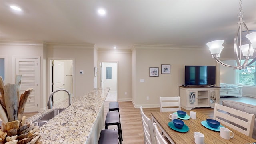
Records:
[[[74,60],[50,59],[50,94],[57,89],[68,90],[71,96],[74,95]],[[49,95],[50,95],[49,94]],[[68,98],[64,91],[58,91],[53,96],[54,104],[62,102]]]

